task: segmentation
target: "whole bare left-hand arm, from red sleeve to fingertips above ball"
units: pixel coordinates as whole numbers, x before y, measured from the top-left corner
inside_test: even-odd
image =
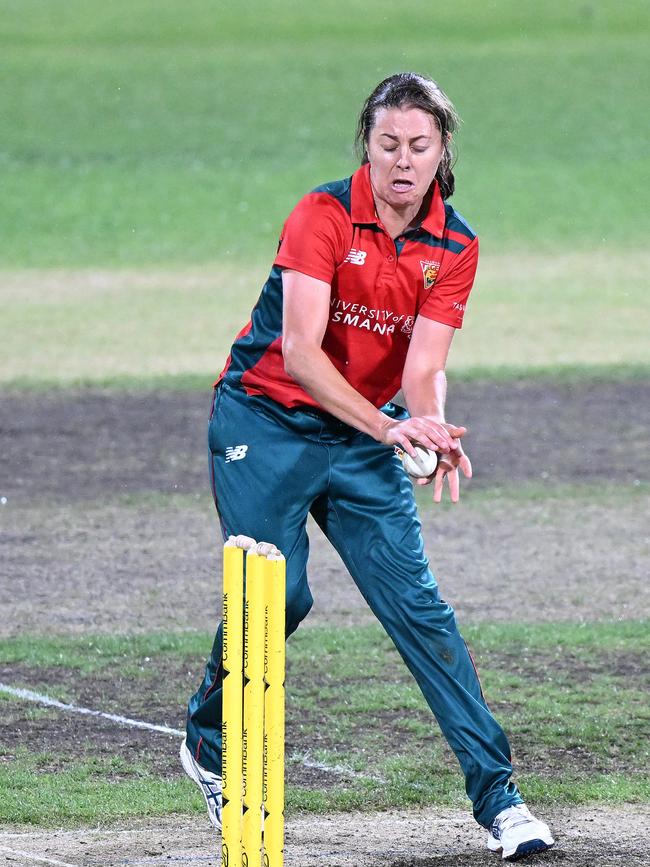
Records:
[[[413,440],[448,452],[456,440],[427,418],[396,422],[366,400],[334,367],[321,348],[329,316],[328,283],[299,271],[282,272],[282,353],[289,376],[329,413],[386,445],[415,454]],[[305,315],[308,311],[309,315]]]

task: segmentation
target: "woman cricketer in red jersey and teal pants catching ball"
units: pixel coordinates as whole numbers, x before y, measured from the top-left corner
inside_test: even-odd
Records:
[[[424,555],[413,489],[394,447],[441,455],[459,496],[471,475],[445,421],[445,363],[463,320],[478,240],[446,200],[455,110],[438,85],[391,76],[359,119],[362,165],[289,216],[249,324],[215,387],[209,428],[224,536],[287,558],[287,635],[309,612],[311,513],[415,676],[465,774],[474,816],[504,858],[553,844],[510,781],[508,741],[481,693],[453,610]],[[408,413],[387,403],[401,388]],[[423,480],[424,484],[432,479]],[[211,821],[221,810],[221,627],[188,709],[181,758]]]

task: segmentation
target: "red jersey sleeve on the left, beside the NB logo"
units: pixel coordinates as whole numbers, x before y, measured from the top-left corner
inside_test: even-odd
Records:
[[[273,264],[331,283],[348,252],[346,217],[332,196],[309,193],[289,214]]]

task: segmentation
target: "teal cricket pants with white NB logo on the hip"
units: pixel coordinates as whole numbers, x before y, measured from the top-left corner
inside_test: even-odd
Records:
[[[288,410],[227,383],[215,391],[209,447],[224,538],[242,533],[272,542],[286,557],[287,636],[313,601],[311,513],[422,690],[460,762],[476,820],[487,827],[500,810],[521,803],[507,738],[485,703],[453,609],[440,598],[413,488],[393,449],[332,416]],[[188,746],[215,773],[221,682],[220,626],[187,718]]]

